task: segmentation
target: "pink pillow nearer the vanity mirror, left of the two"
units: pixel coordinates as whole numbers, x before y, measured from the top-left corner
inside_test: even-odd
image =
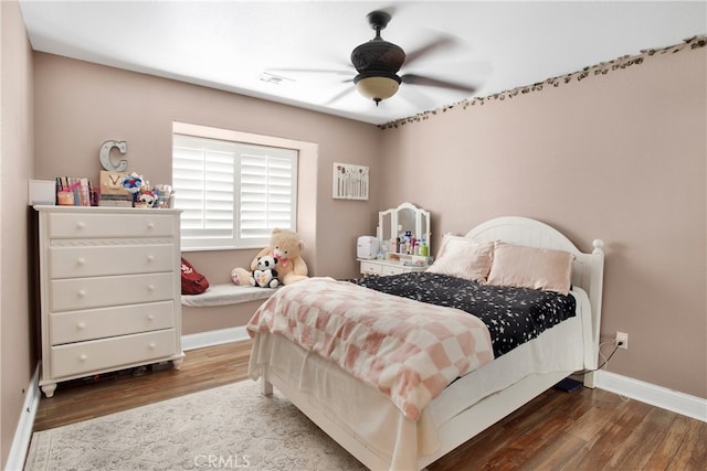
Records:
[[[472,281],[486,281],[493,250],[493,242],[475,242],[445,234],[437,258],[428,271]]]

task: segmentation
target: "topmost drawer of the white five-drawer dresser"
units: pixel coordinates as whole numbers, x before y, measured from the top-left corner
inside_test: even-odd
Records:
[[[82,237],[165,237],[175,234],[175,217],[169,214],[49,214],[50,238]]]

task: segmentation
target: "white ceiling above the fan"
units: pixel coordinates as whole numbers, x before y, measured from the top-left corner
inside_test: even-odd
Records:
[[[20,0],[35,51],[384,124],[530,85],[707,33],[705,1],[36,1]],[[402,84],[379,107],[350,90],[351,50],[373,38],[437,50],[402,73],[471,84],[474,95]],[[339,71],[295,72],[292,68]],[[265,81],[267,73],[285,77]],[[265,74],[265,75],[264,75]],[[330,103],[331,101],[331,103]]]

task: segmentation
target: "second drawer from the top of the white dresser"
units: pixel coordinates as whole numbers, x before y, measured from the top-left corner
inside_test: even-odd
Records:
[[[175,269],[175,246],[95,245],[52,246],[50,278],[83,278],[107,275],[148,274]]]

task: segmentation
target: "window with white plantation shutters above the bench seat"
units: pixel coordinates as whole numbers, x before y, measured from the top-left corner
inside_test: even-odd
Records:
[[[223,133],[173,133],[172,188],[175,207],[182,210],[183,249],[263,247],[274,227],[296,231],[297,149]]]

